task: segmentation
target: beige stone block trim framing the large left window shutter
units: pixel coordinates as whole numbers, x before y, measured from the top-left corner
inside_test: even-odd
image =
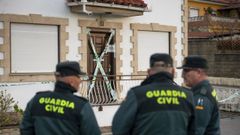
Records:
[[[4,43],[0,47],[0,52],[4,54],[4,60],[0,61],[0,67],[4,68],[4,75],[1,76],[1,82],[26,82],[26,81],[53,81],[53,73],[27,73],[27,74],[12,74],[10,71],[10,23],[26,23],[26,24],[44,24],[59,26],[59,46],[60,46],[60,61],[66,60],[68,47],[68,19],[56,17],[43,17],[39,14],[16,15],[16,14],[0,14],[0,22],[3,22],[3,30],[0,31]]]

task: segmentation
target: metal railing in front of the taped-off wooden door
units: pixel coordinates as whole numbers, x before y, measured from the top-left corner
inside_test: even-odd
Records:
[[[79,94],[93,105],[119,104],[123,92],[139,85],[146,75],[109,75],[108,81],[102,76],[92,80],[92,76],[85,78],[79,89]],[[94,83],[94,87],[91,88]],[[112,90],[112,91],[111,91]]]

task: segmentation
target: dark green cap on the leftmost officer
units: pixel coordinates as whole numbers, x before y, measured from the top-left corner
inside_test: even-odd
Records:
[[[86,73],[81,71],[80,65],[76,61],[60,62],[56,66],[56,75],[60,75],[62,77],[79,76],[79,75],[85,75],[85,74]]]

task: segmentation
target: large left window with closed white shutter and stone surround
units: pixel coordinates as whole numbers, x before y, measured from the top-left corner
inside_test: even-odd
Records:
[[[53,81],[66,60],[68,19],[0,14],[0,81]]]

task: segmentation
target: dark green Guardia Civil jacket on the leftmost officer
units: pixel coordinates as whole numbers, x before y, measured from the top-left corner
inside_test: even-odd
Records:
[[[28,103],[20,125],[22,135],[100,135],[89,102],[73,95],[70,85],[37,93]]]

